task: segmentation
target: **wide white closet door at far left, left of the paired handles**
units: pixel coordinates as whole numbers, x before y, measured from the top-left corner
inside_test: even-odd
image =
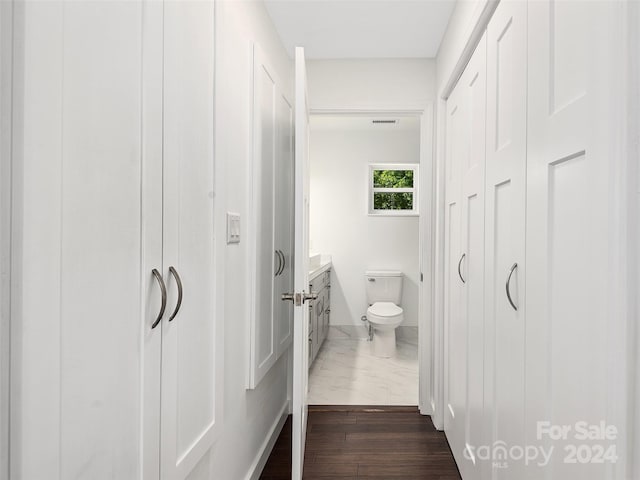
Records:
[[[143,435],[157,410],[143,405],[159,394],[149,326],[161,251],[147,239],[161,232],[161,190],[143,202],[141,185],[162,169],[161,125],[149,120],[161,44],[147,43],[161,17],[146,8],[15,5],[16,480],[138,479],[158,463],[157,430]]]

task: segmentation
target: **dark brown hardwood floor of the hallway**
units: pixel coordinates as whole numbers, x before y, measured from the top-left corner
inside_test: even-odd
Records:
[[[304,480],[460,480],[443,432],[416,407],[310,406]],[[291,417],[262,480],[291,478]]]

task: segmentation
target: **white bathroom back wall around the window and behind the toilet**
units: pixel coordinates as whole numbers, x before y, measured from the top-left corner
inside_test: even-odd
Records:
[[[310,248],[332,256],[332,325],[362,325],[366,270],[405,274],[403,325],[418,324],[418,217],[375,217],[367,211],[370,163],[420,161],[415,123],[411,130],[345,131],[314,128],[312,120]]]

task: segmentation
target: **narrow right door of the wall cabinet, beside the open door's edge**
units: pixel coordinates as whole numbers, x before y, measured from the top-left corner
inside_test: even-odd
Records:
[[[275,177],[275,247],[283,264],[275,279],[274,317],[278,326],[277,355],[287,351],[293,339],[293,304],[283,302],[283,293],[293,290],[293,107],[280,94],[277,100],[278,132]]]

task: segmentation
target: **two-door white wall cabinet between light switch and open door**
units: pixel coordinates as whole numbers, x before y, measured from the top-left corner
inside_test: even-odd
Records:
[[[292,341],[293,108],[259,45],[253,47],[253,139],[249,271],[250,359],[255,388]]]

